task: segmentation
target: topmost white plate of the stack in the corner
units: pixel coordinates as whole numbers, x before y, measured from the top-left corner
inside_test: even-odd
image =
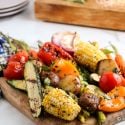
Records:
[[[0,0],[0,9],[6,9],[18,6],[27,0]]]

